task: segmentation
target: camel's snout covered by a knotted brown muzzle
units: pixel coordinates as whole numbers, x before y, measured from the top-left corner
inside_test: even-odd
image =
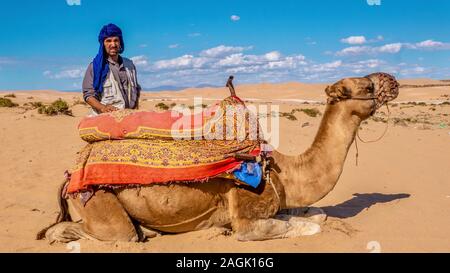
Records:
[[[370,79],[374,84],[374,96],[376,97],[375,109],[397,98],[400,84],[394,76],[379,72],[367,75],[365,78]]]

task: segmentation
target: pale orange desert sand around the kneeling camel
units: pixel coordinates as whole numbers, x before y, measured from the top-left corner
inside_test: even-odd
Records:
[[[436,84],[415,79],[402,84]],[[237,86],[238,95],[279,111],[324,110],[324,84]],[[315,206],[328,220],[320,234],[294,239],[238,242],[233,236],[204,230],[164,235],[145,243],[79,241],[81,252],[450,252],[450,87],[402,88],[391,106],[388,132],[376,143],[359,143],[359,164],[351,147],[336,188]],[[0,92],[3,97],[8,92]],[[85,145],[77,125],[89,108],[71,106],[74,116],[48,117],[27,110],[27,102],[63,98],[71,105],[78,93],[15,91],[20,107],[0,108],[0,251],[70,252],[65,244],[36,241],[35,234],[54,221],[57,189],[76,153]],[[159,102],[204,104],[228,95],[225,88],[144,93],[142,109]],[[412,103],[413,102],[413,103]],[[447,102],[444,105],[439,103]],[[196,101],[198,103],[198,101]],[[281,117],[280,150],[300,154],[312,142],[321,117],[296,112]],[[363,139],[383,133],[386,108],[362,124]]]

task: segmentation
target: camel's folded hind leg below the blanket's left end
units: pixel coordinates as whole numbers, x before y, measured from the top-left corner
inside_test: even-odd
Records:
[[[85,206],[79,198],[70,201],[82,221],[62,222],[49,228],[46,237],[51,242],[78,239],[125,242],[139,240],[130,217],[114,193],[98,190]]]

